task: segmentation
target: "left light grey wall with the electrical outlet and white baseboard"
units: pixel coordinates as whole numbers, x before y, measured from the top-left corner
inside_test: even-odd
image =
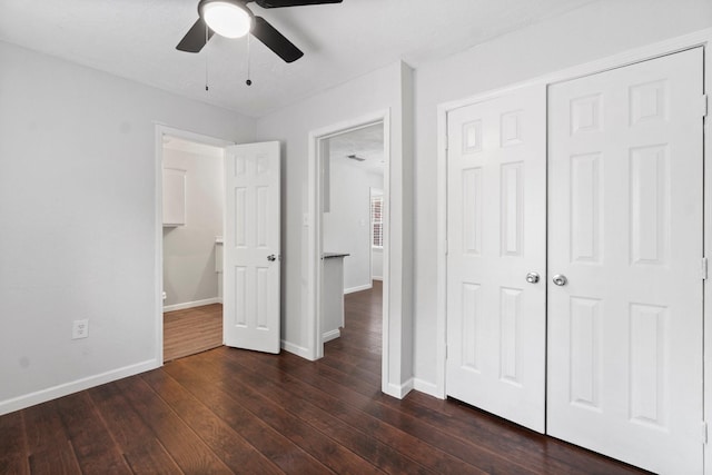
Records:
[[[160,365],[155,122],[254,120],[2,42],[0,65],[2,414]]]

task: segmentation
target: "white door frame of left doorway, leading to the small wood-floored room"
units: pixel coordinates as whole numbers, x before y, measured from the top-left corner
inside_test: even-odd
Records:
[[[156,365],[164,366],[164,136],[170,136],[189,140],[196,144],[209,145],[214,147],[225,147],[236,145],[234,141],[220,139],[216,137],[205,136],[188,130],[177,129],[164,123],[155,123],[155,204],[156,204],[156,240],[155,253],[156,259],[154,264],[154,273],[156,287],[154,289],[154,311],[156,315]],[[222,211],[222,222],[225,224],[225,210]]]

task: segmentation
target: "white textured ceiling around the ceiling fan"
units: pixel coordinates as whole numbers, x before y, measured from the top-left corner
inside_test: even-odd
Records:
[[[0,0],[0,40],[260,117],[397,60],[417,67],[595,0],[344,0],[264,10],[305,56],[286,65],[251,41],[175,49],[197,0]],[[205,91],[206,60],[210,90]]]

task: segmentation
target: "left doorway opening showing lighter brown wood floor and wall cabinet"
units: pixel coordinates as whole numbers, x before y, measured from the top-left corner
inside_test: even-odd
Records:
[[[162,126],[157,129],[157,359],[161,363],[224,342],[227,145]]]

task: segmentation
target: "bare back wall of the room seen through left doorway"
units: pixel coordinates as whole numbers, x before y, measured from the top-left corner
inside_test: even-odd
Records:
[[[180,144],[180,142],[178,142]],[[164,147],[164,167],[186,170],[186,225],[164,228],[165,306],[218,298],[215,238],[222,236],[222,151]]]

